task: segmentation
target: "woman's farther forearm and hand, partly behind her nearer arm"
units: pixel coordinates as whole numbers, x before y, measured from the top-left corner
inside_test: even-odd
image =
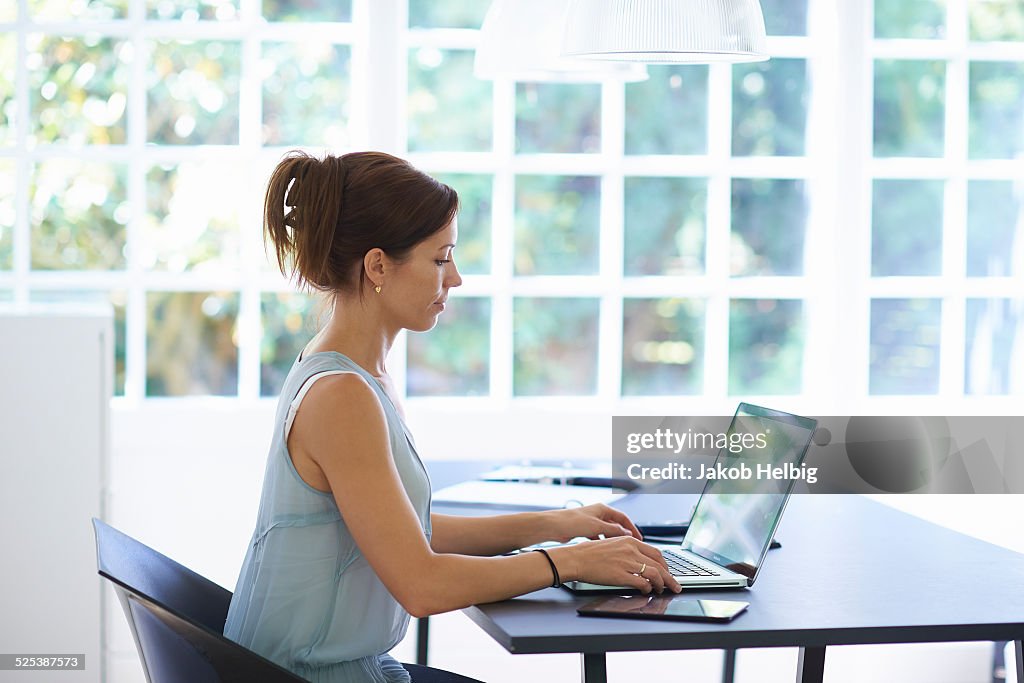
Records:
[[[438,553],[499,555],[535,543],[565,542],[578,537],[640,538],[640,531],[625,513],[602,504],[486,517],[442,514],[430,517],[433,525],[430,546]]]

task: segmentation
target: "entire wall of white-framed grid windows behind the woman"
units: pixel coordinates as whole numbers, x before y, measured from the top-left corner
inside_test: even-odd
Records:
[[[1020,395],[1020,3],[763,0],[770,61],[629,84],[475,79],[486,5],[7,3],[0,302],[113,302],[129,399],[273,396],[324,311],[269,170],[378,147],[463,203],[418,400]]]

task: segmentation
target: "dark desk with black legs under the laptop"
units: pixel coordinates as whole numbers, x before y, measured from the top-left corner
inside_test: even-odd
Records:
[[[639,517],[657,497],[620,507]],[[606,680],[605,653],[799,647],[798,682],[821,681],[828,645],[1016,641],[1024,682],[1024,555],[856,496],[795,496],[754,588],[728,625],[583,617],[591,598],[546,589],[466,609],[516,654],[581,652],[584,680]]]

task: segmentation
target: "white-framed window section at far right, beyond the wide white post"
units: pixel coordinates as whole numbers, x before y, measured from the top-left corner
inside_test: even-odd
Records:
[[[1020,394],[1024,7],[874,3],[872,394]]]

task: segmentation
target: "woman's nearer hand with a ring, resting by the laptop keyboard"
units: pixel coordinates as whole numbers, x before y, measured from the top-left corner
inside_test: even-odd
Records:
[[[629,586],[642,593],[662,593],[666,589],[679,593],[683,590],[669,571],[662,552],[630,536],[586,541],[552,548],[548,552],[562,581]]]

